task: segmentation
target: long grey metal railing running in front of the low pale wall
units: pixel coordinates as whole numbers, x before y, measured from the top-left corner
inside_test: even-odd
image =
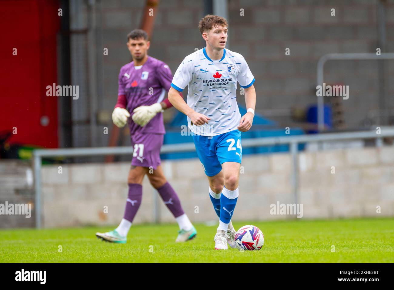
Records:
[[[376,146],[382,146],[383,137],[394,137],[394,127],[381,128],[380,134],[377,131],[359,131],[344,133],[325,133],[319,135],[294,135],[283,137],[264,137],[242,140],[242,148],[269,146],[269,145],[290,145],[292,155],[292,187],[294,201],[298,200],[298,144],[309,142],[337,141],[337,140],[354,140],[354,139],[375,139]],[[184,144],[167,144],[162,146],[161,153],[190,152],[194,151],[193,143]],[[93,156],[93,155],[125,155],[133,153],[132,146],[122,147],[97,147],[97,148],[70,148],[70,149],[36,149],[33,151],[34,163],[34,189],[35,189],[35,221],[36,227],[41,228],[41,163],[42,157],[75,157],[75,156]],[[154,195],[157,196],[157,195]],[[155,202],[157,205],[157,202]],[[157,214],[158,208],[155,208]],[[157,221],[157,216],[155,217]]]

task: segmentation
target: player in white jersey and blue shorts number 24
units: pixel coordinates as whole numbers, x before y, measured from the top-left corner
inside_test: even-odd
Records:
[[[241,132],[253,123],[255,79],[243,56],[225,49],[227,21],[206,15],[199,22],[206,47],[184,58],[168,93],[175,108],[188,116],[197,155],[209,181],[209,195],[219,216],[215,249],[234,247],[231,223],[238,199],[242,160]],[[241,116],[236,101],[237,82],[245,93],[247,113]],[[180,92],[188,86],[187,103]]]

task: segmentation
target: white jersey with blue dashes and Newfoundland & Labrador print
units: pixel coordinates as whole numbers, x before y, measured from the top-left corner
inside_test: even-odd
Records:
[[[238,127],[241,114],[236,101],[237,82],[242,88],[249,88],[255,82],[245,58],[237,52],[223,49],[220,60],[211,60],[204,47],[184,58],[171,86],[179,92],[188,86],[186,103],[211,118],[208,124],[196,126],[188,117],[193,133],[216,136]]]

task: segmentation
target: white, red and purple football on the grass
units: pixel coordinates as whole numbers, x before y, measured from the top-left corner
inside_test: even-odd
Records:
[[[235,234],[235,245],[238,250],[260,250],[264,245],[264,236],[257,226],[242,226]]]

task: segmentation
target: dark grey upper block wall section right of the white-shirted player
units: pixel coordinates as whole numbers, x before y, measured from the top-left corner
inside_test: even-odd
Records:
[[[257,109],[289,109],[316,102],[316,65],[327,53],[376,52],[378,1],[230,1],[232,49],[242,53],[255,74]],[[394,2],[387,2],[387,49],[394,49]],[[245,16],[240,16],[240,8]],[[336,16],[331,16],[334,8]],[[235,32],[234,32],[235,30]],[[249,37],[245,37],[249,35]],[[235,44],[235,45],[234,45]],[[286,56],[285,48],[290,49]],[[387,62],[387,102],[394,92],[390,79],[394,61]],[[349,85],[343,100],[346,125],[358,127],[368,110],[378,104],[377,63],[330,61],[326,83]],[[240,98],[242,99],[242,98]],[[286,126],[288,118],[276,120]]]

